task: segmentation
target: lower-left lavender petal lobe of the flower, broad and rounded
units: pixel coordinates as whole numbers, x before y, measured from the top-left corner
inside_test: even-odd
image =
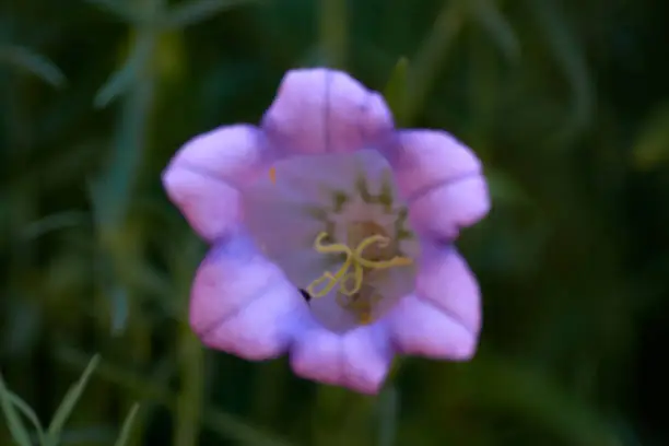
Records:
[[[190,296],[190,325],[202,341],[250,360],[282,354],[306,310],[297,290],[245,236],[209,253]]]

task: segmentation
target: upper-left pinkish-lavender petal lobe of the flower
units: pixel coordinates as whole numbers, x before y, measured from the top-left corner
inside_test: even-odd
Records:
[[[267,175],[273,160],[262,141],[251,126],[222,127],[187,142],[163,173],[169,199],[206,240],[239,226],[237,187]]]

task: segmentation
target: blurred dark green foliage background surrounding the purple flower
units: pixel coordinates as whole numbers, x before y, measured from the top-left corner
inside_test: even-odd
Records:
[[[0,1],[0,445],[669,444],[667,17],[650,0]],[[407,360],[376,398],[202,349],[186,308],[206,246],[160,184],[187,139],[258,121],[286,70],[317,64],[474,148],[493,193],[459,242],[479,354]]]

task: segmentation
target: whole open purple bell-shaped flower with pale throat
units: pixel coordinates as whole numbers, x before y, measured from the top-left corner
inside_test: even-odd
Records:
[[[396,130],[383,97],[339,71],[290,71],[261,126],[225,126],[163,181],[213,247],[190,324],[214,349],[375,394],[397,354],[465,361],[481,325],[453,246],[490,198],[448,133]],[[301,291],[302,290],[302,291]]]

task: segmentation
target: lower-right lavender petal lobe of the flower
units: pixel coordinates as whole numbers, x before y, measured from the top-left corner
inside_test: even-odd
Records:
[[[423,247],[415,292],[394,308],[388,322],[402,353],[456,361],[474,354],[480,290],[455,248]]]

